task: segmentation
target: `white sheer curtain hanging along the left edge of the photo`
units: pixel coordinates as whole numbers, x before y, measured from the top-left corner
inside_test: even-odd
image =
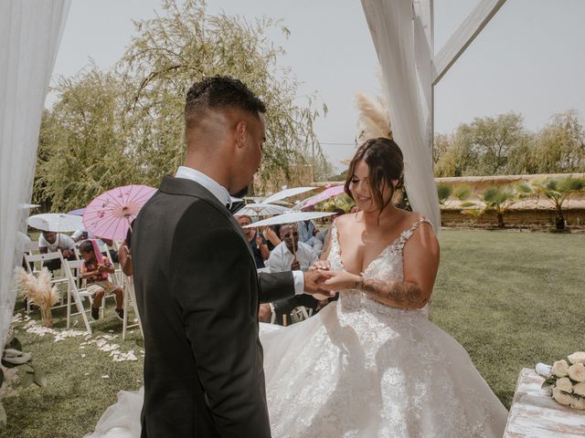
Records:
[[[38,130],[70,0],[0,0],[0,350],[15,306]]]

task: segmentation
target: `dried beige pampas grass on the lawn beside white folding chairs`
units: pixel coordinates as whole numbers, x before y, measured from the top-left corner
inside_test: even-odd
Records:
[[[27,271],[18,266],[15,269],[16,283],[27,299],[40,308],[45,327],[53,327],[51,308],[58,301],[57,286],[51,285],[52,275],[46,267],[38,274],[27,274]]]

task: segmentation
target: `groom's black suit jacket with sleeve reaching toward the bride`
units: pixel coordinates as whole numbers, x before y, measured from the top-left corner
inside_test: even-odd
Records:
[[[165,177],[133,227],[144,326],[142,436],[270,437],[259,300],[294,295],[256,273],[248,239],[203,186]]]

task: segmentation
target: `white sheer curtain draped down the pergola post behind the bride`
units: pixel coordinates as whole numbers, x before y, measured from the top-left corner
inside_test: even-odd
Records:
[[[420,38],[415,41],[412,0],[362,0],[362,7],[382,68],[392,133],[404,154],[410,203],[438,232],[441,213],[432,172],[430,114],[424,104],[431,89],[421,88],[415,64],[421,50],[415,53]]]

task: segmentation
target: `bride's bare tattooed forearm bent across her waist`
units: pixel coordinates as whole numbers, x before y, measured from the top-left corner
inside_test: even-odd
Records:
[[[363,290],[393,307],[421,308],[427,301],[420,287],[407,281],[385,282],[375,278],[360,277],[356,289]]]

